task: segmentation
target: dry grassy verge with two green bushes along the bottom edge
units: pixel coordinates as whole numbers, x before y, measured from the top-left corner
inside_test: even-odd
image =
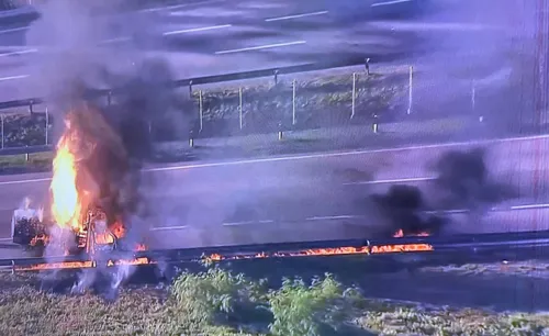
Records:
[[[549,315],[369,299],[333,276],[277,288],[220,268],[183,272],[165,288],[98,295],[36,290],[0,276],[2,335],[542,335]]]

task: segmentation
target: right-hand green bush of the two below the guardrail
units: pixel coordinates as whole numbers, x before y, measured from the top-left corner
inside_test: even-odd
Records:
[[[356,294],[354,289],[344,290],[330,275],[314,279],[311,285],[301,279],[284,279],[282,288],[269,294],[274,317],[270,331],[281,336],[337,332],[348,321]]]

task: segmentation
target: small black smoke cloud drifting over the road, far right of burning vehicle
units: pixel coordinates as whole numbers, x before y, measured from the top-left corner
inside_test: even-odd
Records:
[[[432,188],[396,184],[385,194],[372,194],[372,203],[385,223],[381,234],[402,229],[404,235],[437,235],[452,223],[444,211],[469,211],[473,220],[479,211],[517,197],[511,186],[491,179],[484,155],[479,148],[447,152],[433,167],[437,178]]]

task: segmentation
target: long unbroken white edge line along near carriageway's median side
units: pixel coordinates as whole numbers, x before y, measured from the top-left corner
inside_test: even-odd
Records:
[[[416,146],[381,148],[381,149],[367,149],[367,150],[333,152],[333,153],[320,153],[320,154],[296,155],[296,156],[266,157],[266,158],[235,160],[235,161],[219,161],[219,163],[209,163],[209,164],[195,164],[195,165],[148,168],[148,169],[143,169],[143,171],[145,171],[145,172],[161,172],[161,171],[171,171],[171,170],[184,170],[184,169],[214,168],[214,167],[224,167],[224,166],[242,166],[242,165],[250,165],[250,164],[293,161],[293,160],[318,159],[318,158],[327,158],[327,157],[341,157],[341,156],[365,155],[365,154],[395,153],[395,152],[406,152],[406,150],[416,150],[416,149],[446,148],[446,147],[457,147],[457,146],[468,146],[468,145],[486,145],[486,144],[523,142],[523,141],[533,141],[533,139],[546,139],[546,138],[549,138],[549,135],[507,137],[507,138],[471,141],[471,142],[461,142],[461,143],[433,144],[433,145],[423,145],[423,146],[416,145]],[[421,179],[421,178],[413,178],[413,179]],[[0,186],[40,182],[40,181],[48,181],[48,180],[51,180],[51,178],[3,181],[3,182],[0,182]]]

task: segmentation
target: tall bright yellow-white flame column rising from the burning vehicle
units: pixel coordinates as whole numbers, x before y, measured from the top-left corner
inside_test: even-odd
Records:
[[[80,226],[81,202],[77,189],[76,156],[70,150],[69,136],[64,134],[57,143],[54,158],[52,190],[52,215],[60,226],[78,229]]]

